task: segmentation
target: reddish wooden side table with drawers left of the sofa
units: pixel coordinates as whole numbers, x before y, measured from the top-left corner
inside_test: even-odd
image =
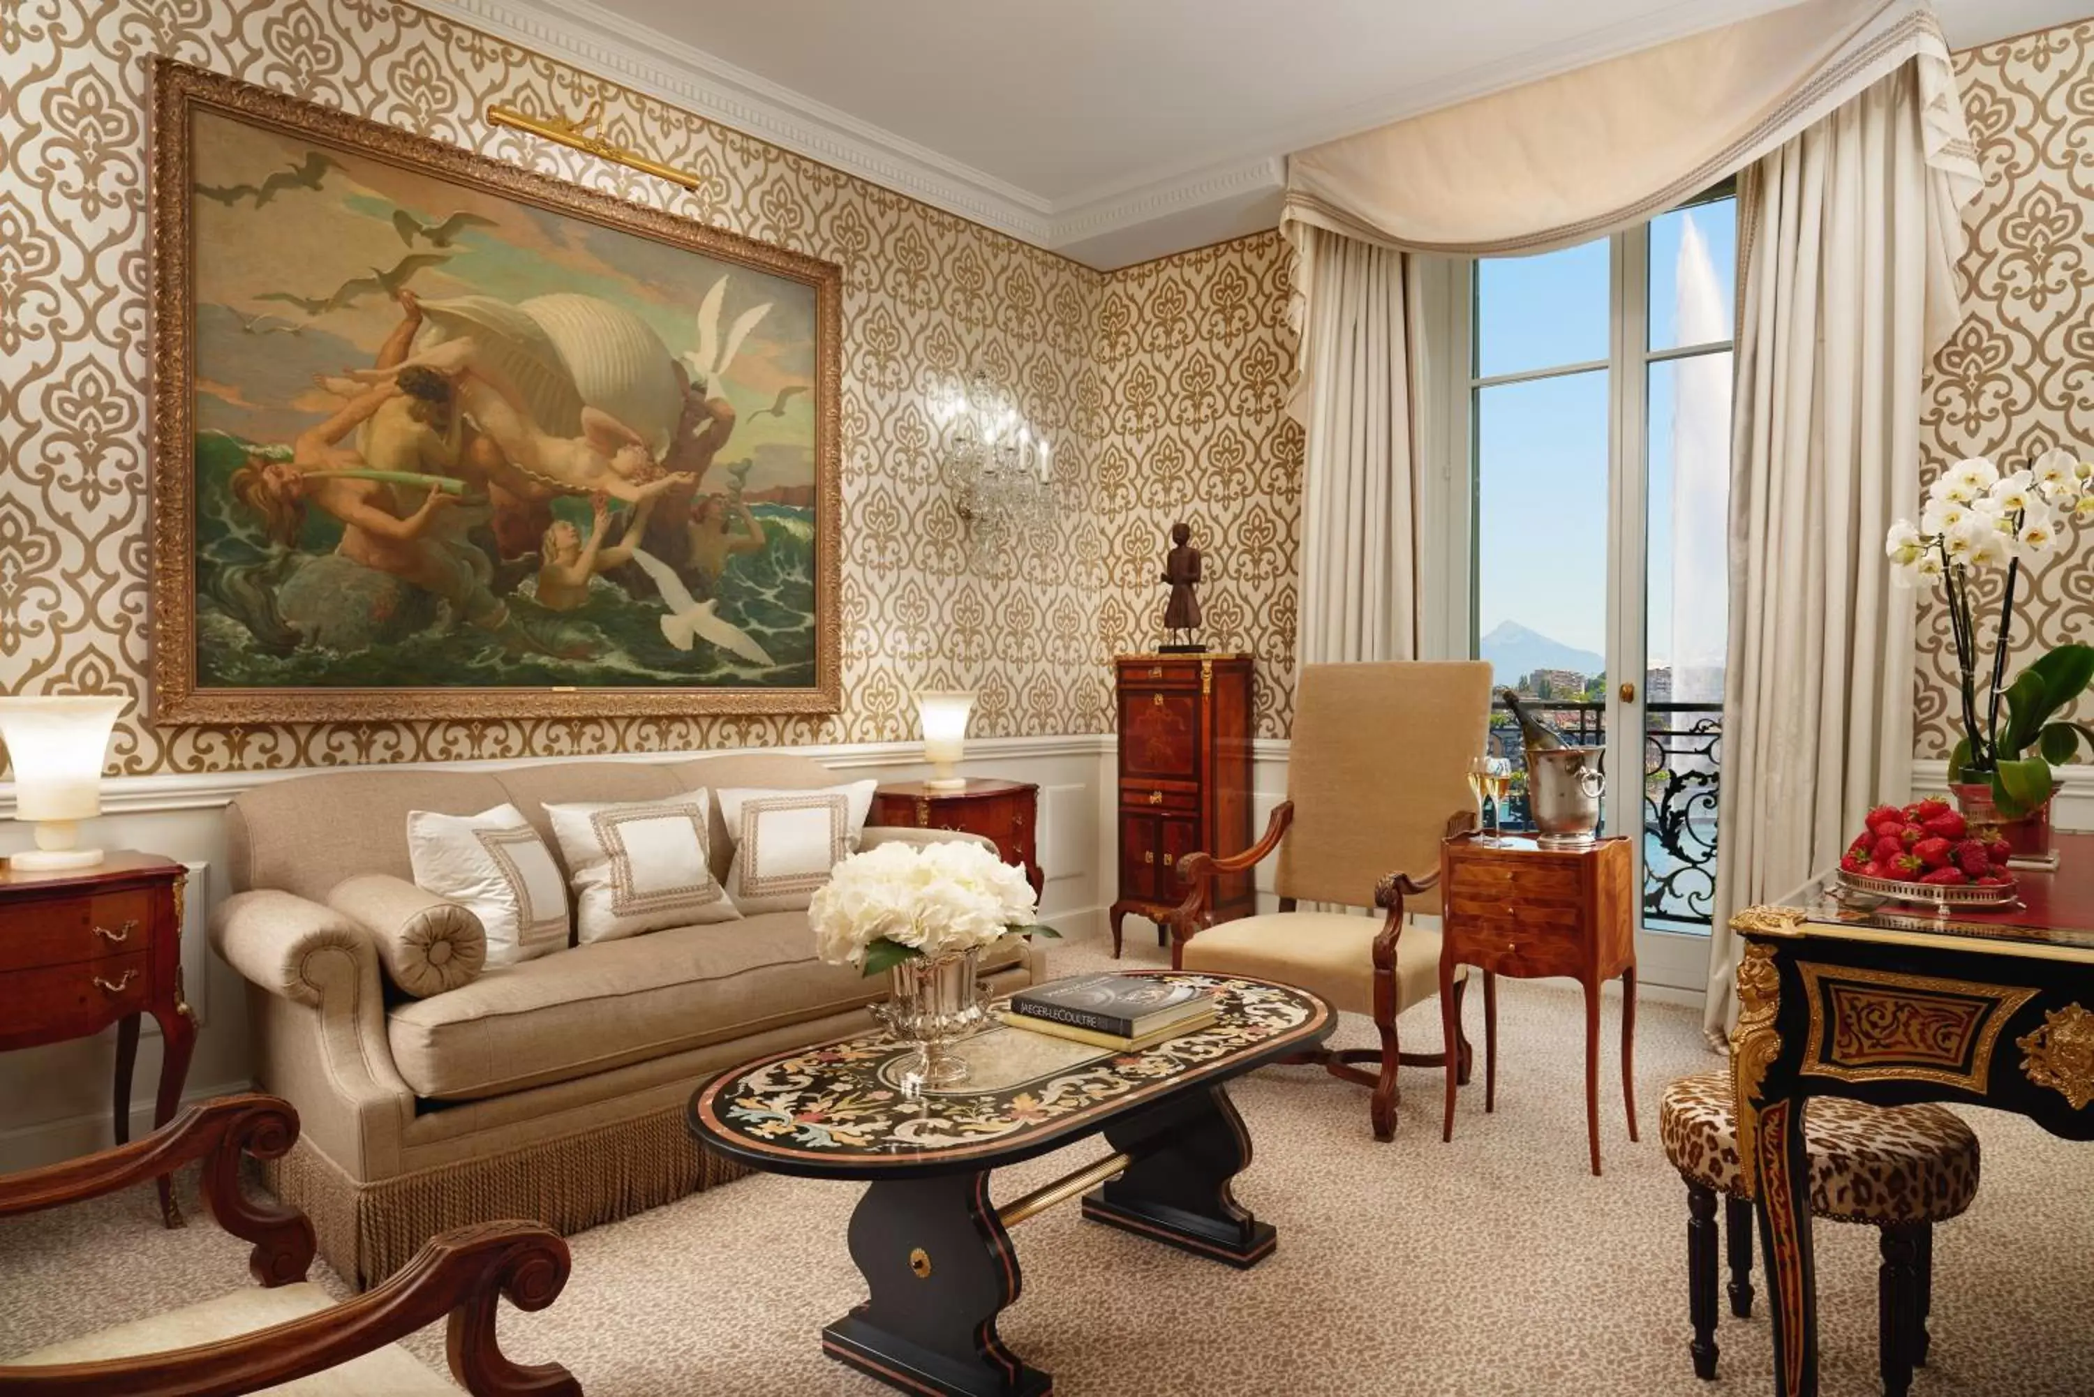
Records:
[[[182,997],[182,886],[174,859],[111,850],[90,869],[0,869],[0,1051],[42,1047],[117,1026],[115,1139],[130,1141],[130,1081],[138,1016],[159,1024],[153,1129],[174,1118],[197,1045]],[[170,1175],[159,1213],[182,1225]]]

